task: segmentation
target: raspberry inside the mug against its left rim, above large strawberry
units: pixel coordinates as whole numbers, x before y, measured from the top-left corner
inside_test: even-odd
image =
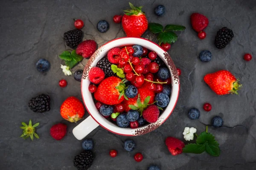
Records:
[[[89,80],[94,84],[99,84],[105,77],[104,71],[99,67],[93,67],[89,71]]]

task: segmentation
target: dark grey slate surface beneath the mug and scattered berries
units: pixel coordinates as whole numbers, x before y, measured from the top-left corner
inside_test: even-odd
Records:
[[[108,2],[108,3],[107,3]],[[169,119],[157,130],[143,136],[131,137],[137,149],[131,153],[122,149],[122,142],[128,137],[114,135],[102,127],[93,130],[96,159],[91,170],[146,170],[154,163],[161,170],[255,170],[256,169],[256,1],[255,0],[131,0],[137,6],[143,5],[150,22],[180,24],[186,26],[169,54],[176,66],[182,70],[180,97]],[[157,17],[153,8],[166,6],[164,17]],[[73,29],[73,18],[84,20],[84,39],[93,39],[99,46],[117,37],[125,36],[121,26],[113,23],[114,14],[122,14],[128,2],[112,0],[3,0],[0,5],[0,169],[1,170],[75,170],[73,157],[81,149],[81,141],[75,139],[72,129],[76,125],[63,121],[59,114],[61,103],[68,96],[81,99],[80,83],[72,76],[61,72],[58,54],[68,49],[63,34]],[[207,37],[199,40],[192,30],[189,16],[200,12],[209,18],[205,29]],[[96,23],[105,19],[110,30],[99,33]],[[217,30],[223,26],[232,28],[235,34],[230,45],[218,50],[213,45]],[[151,35],[143,35],[151,38]],[[202,63],[198,59],[201,50],[213,54],[212,61]],[[245,62],[244,53],[251,53],[253,60]],[[47,74],[35,69],[38,59],[51,62]],[[87,59],[76,66],[83,69]],[[227,69],[240,77],[243,89],[239,95],[217,96],[203,82],[207,73]],[[60,88],[58,80],[65,78],[67,88]],[[30,98],[46,93],[52,99],[51,111],[33,113],[27,103]],[[212,104],[212,111],[202,109],[204,102]],[[199,120],[192,121],[186,113],[191,107],[201,111]],[[198,132],[205,130],[213,116],[220,115],[224,126],[209,127],[220,143],[221,156],[181,154],[171,156],[164,140],[167,136],[183,139],[186,126],[195,127]],[[88,113],[86,113],[88,116]],[[19,136],[20,122],[40,122],[37,132],[39,140],[31,142]],[[49,129],[58,122],[68,125],[67,136],[55,141]],[[119,152],[118,157],[108,156],[110,149]],[[142,152],[144,159],[137,163],[133,156]]]

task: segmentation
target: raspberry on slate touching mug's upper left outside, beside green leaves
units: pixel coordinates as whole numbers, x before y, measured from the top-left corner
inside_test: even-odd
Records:
[[[76,48],[76,54],[83,56],[84,58],[91,57],[96,51],[96,42],[93,40],[85,40],[81,42]]]

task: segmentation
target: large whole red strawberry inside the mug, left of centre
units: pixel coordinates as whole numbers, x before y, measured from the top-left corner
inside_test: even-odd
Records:
[[[118,77],[111,76],[104,79],[98,86],[94,97],[99,102],[106,105],[116,105],[121,103],[125,96],[125,81]]]

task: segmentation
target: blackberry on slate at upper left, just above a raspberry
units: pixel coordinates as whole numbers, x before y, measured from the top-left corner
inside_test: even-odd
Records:
[[[70,48],[75,48],[81,41],[83,32],[80,29],[73,29],[64,33],[64,40]]]

